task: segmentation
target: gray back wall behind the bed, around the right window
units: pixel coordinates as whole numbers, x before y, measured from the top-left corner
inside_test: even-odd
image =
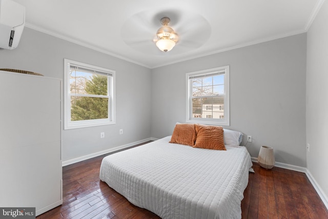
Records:
[[[306,166],[306,34],[221,52],[152,70],[151,136],[186,122],[186,73],[230,65],[230,126],[274,148],[277,162]],[[245,142],[245,137],[244,140]]]

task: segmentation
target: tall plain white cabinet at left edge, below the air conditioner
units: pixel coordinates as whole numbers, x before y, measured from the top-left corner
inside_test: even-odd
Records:
[[[60,79],[0,71],[0,206],[63,203]]]

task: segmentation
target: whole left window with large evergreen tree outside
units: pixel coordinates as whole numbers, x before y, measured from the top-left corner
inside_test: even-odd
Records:
[[[65,129],[115,124],[115,71],[64,59]]]

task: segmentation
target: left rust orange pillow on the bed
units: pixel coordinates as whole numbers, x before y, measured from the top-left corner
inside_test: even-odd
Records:
[[[195,124],[176,124],[170,143],[194,146],[196,141]]]

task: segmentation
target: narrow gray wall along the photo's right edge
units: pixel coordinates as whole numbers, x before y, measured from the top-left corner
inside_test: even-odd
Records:
[[[306,142],[308,169],[328,201],[328,2],[308,31],[306,66]],[[328,203],[326,203],[327,205]]]

